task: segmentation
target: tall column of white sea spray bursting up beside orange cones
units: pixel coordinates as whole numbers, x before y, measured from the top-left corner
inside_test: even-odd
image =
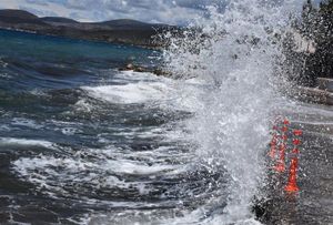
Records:
[[[281,40],[293,1],[235,0],[223,13],[209,7],[181,35],[167,34],[165,67],[181,79],[199,78],[205,88],[188,126],[201,163],[229,176],[222,215],[208,224],[245,223],[264,183],[264,152],[272,115],[282,110]],[[225,192],[225,191],[224,191]],[[223,202],[212,198],[210,202]],[[210,203],[208,203],[209,205]],[[249,222],[250,223],[250,222]]]

